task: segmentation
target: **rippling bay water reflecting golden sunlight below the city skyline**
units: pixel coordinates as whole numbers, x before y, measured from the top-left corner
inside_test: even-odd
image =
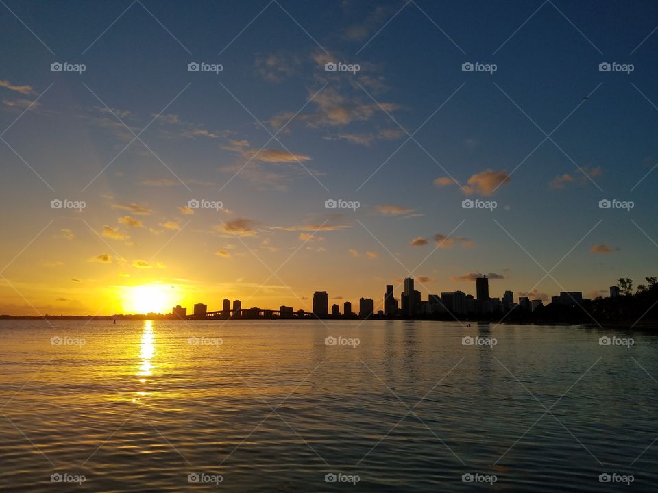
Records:
[[[0,321],[3,491],[629,490],[600,483],[605,472],[658,491],[658,338],[649,333],[52,324]],[[326,344],[337,336],[352,346]],[[464,345],[465,336],[496,345]],[[601,346],[602,336],[634,344]],[[326,482],[330,473],[359,482]],[[496,482],[464,482],[469,473]],[[53,484],[56,474],[85,481]],[[215,483],[190,483],[191,474]]]

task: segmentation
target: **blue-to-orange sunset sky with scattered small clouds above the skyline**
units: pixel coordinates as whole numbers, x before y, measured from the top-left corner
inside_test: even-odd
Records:
[[[657,27],[649,1],[3,0],[0,314],[656,275]]]

